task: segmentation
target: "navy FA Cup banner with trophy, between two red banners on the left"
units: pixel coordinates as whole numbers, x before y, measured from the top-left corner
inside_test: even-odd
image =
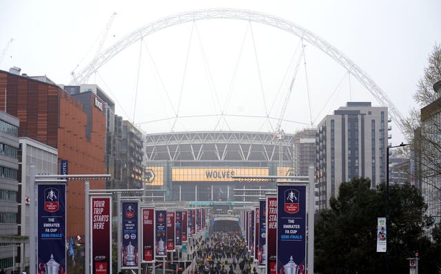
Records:
[[[121,268],[138,268],[138,202],[122,202],[121,209],[123,210]]]

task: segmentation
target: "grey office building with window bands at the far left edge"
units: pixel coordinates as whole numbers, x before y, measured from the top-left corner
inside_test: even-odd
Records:
[[[0,111],[0,267],[11,270],[17,257],[18,149],[19,119]]]

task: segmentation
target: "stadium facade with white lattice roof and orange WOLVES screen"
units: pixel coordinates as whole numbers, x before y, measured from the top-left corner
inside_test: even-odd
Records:
[[[243,191],[239,197],[239,191],[234,189],[275,190],[276,183],[237,180],[232,176],[291,175],[293,144],[293,135],[264,132],[147,134],[145,189],[147,193],[163,190],[166,200],[176,202],[256,200],[260,191],[247,195]]]

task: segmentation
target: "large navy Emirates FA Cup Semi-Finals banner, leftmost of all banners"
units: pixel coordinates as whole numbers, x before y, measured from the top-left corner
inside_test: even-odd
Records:
[[[66,273],[66,187],[38,185],[37,273]]]

